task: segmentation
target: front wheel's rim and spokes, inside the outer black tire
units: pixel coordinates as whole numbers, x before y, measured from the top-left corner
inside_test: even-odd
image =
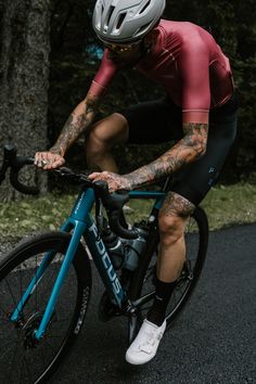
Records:
[[[50,248],[52,249],[52,248]],[[76,271],[72,266],[59,297],[46,335],[38,344],[34,334],[55,281],[63,253],[56,253],[42,279],[24,307],[18,321],[10,321],[17,303],[35,276],[43,253],[29,252],[18,265],[5,266],[0,272],[0,382],[36,383],[42,377],[63,349],[74,321],[78,299]],[[10,269],[12,271],[10,271]],[[11,272],[11,273],[9,273]]]

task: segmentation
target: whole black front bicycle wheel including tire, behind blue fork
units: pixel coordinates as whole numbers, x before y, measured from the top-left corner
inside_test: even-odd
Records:
[[[30,342],[49,299],[46,293],[48,290],[50,290],[49,293],[52,291],[71,234],[64,232],[38,234],[18,244],[0,263],[1,383],[47,382],[81,331],[90,298],[91,266],[86,249],[79,243],[46,335],[38,345],[33,346]],[[47,252],[52,252],[53,259],[26,302],[23,315],[20,316],[20,323],[13,324],[10,321],[10,313],[16,308],[24,290],[31,281],[36,268]],[[61,336],[62,330],[64,334]],[[10,349],[12,346],[14,346],[13,349]]]

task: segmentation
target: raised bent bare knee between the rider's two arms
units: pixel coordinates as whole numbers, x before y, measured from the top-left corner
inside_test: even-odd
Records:
[[[88,165],[97,165],[102,170],[117,172],[117,166],[111,150],[113,145],[128,140],[128,131],[126,118],[118,113],[114,113],[95,123],[86,140]]]

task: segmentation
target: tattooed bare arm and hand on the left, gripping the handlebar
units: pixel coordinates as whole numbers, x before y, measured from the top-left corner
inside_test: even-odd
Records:
[[[43,169],[57,168],[65,163],[64,154],[92,124],[99,98],[88,93],[68,117],[55,144],[48,152],[37,152],[35,164]]]

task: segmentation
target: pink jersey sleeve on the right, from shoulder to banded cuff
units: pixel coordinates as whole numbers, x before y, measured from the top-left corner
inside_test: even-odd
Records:
[[[210,108],[209,52],[206,44],[190,41],[179,57],[183,123],[208,124]]]

